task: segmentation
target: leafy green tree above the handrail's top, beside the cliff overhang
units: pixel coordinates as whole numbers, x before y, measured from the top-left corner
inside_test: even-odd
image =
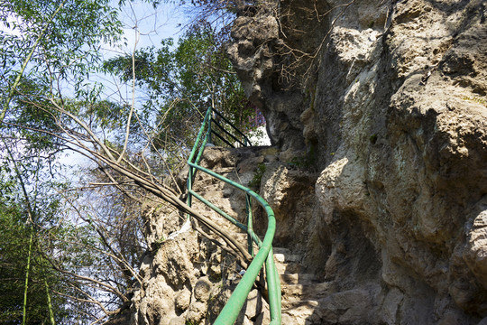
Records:
[[[175,44],[163,40],[160,49],[134,53],[135,79],[148,93],[144,108],[155,116],[156,148],[169,155],[192,144],[207,107],[214,106],[240,127],[248,126],[253,107],[225,54],[224,32],[209,23],[192,26]],[[133,76],[133,58],[108,60],[105,68],[124,81]]]

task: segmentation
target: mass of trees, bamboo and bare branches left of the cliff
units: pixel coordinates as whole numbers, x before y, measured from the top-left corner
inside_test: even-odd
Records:
[[[253,114],[225,56],[227,34],[198,20],[177,42],[104,61],[101,46],[115,45],[123,32],[112,5],[0,2],[5,323],[101,323],[124,311],[150,249],[141,218],[148,200],[198,218],[248,258],[224,229],[181,200],[175,180],[208,106],[243,127]],[[146,99],[109,98],[103,83],[90,79],[102,72]],[[60,163],[68,151],[92,164],[69,169]]]

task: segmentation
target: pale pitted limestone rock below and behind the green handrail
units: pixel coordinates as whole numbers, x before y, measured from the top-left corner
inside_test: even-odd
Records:
[[[202,162],[234,181],[248,183],[257,165],[264,162],[264,154],[276,153],[269,148],[263,148],[261,153],[259,148],[208,147]],[[194,189],[240,218],[239,215],[245,213],[244,194],[227,190],[227,186],[198,173]],[[216,212],[210,212],[201,202],[194,202],[193,207],[205,211],[208,218],[223,228],[232,229],[234,236],[246,242],[246,234],[239,233],[238,228]],[[192,229],[180,233],[172,231],[171,236],[165,237],[168,229],[178,229],[173,223],[179,215],[177,211],[163,208],[146,207],[145,218],[151,225],[146,228],[147,237],[151,246],[141,265],[142,285],[133,295],[131,324],[212,323],[234,290],[236,283],[231,279],[241,268],[234,262],[233,255],[225,254],[207,237],[198,237]],[[221,240],[220,244],[225,243]],[[242,315],[244,323],[269,322],[269,308],[260,292],[252,292]]]

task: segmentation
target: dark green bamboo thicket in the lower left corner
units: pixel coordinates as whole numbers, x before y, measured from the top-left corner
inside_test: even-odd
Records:
[[[52,292],[77,293],[61,289],[60,274],[53,272],[45,258],[55,255],[60,248],[56,242],[48,240],[51,234],[58,232],[55,224],[59,219],[54,218],[54,212],[60,208],[59,201],[44,200],[39,204],[37,208],[45,214],[32,223],[26,213],[28,208],[14,199],[20,197],[14,193],[14,187],[2,185],[5,196],[0,200],[0,292],[3,292],[0,320],[6,320],[7,324],[22,322],[24,291],[27,290],[26,323],[49,322],[48,292],[56,322],[64,323],[72,317],[67,300]]]

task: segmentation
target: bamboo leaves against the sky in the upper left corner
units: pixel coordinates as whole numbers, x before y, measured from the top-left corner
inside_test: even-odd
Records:
[[[49,23],[61,4],[59,14]],[[17,0],[3,1],[1,6],[0,21],[13,32],[2,38],[6,57],[2,59],[8,59],[11,68],[20,65],[36,36],[49,23],[32,57],[30,73],[37,76],[86,76],[100,60],[100,42],[113,43],[121,33],[117,12],[108,0]]]

